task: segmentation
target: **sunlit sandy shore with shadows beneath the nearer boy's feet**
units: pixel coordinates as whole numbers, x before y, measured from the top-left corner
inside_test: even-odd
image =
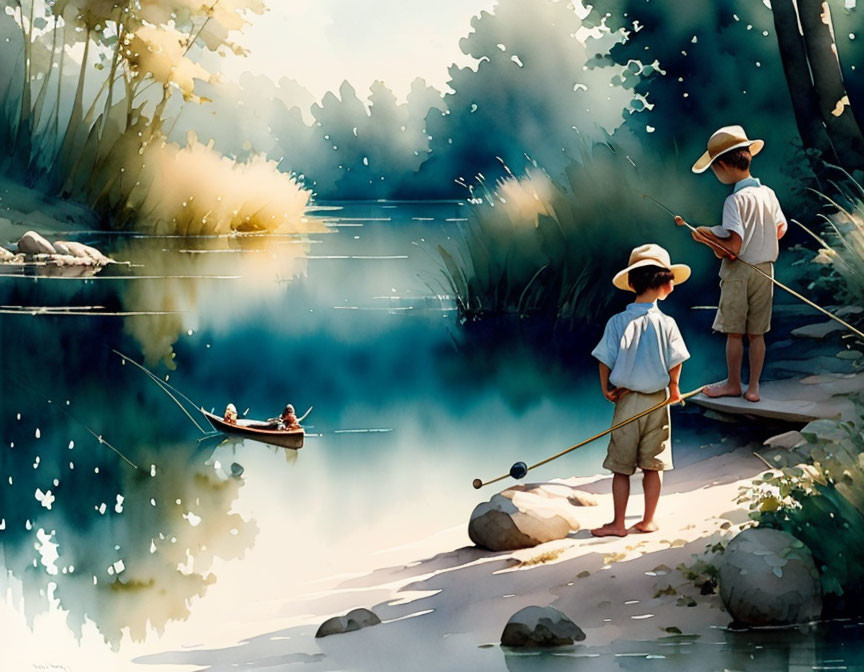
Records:
[[[574,656],[591,661],[591,669],[606,669],[604,660],[608,669],[620,669],[615,661],[622,656],[656,657],[640,653],[639,644],[646,642],[680,649],[698,641],[716,648],[729,616],[717,595],[701,595],[678,568],[693,565],[707,547],[737,532],[747,520],[746,510],[735,503],[739,488],[764,469],[750,446],[669,472],[660,531],[620,539],[595,539],[588,531],[610,518],[611,478],[567,481],[595,493],[600,504],[582,511],[582,529],[566,539],[491,553],[470,546],[467,524],[445,530],[389,552],[414,561],[343,577],[280,605],[283,626],[269,634],[136,662],[208,670],[293,669],[294,664],[304,670],[522,669],[525,654],[506,652],[498,642],[508,618],[528,605],[556,607],[587,635],[579,646],[541,656],[543,664],[552,665],[548,669]],[[639,482],[633,479],[632,522],[642,511]],[[322,621],[355,607],[371,608],[384,623],[314,638]],[[547,669],[529,657],[535,663],[531,669]]]

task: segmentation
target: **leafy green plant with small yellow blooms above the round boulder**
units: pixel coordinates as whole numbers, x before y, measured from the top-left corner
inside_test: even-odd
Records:
[[[806,544],[819,568],[826,605],[840,614],[864,611],[864,399],[856,420],[817,420],[801,434],[812,464],[772,469],[742,488],[755,524]]]

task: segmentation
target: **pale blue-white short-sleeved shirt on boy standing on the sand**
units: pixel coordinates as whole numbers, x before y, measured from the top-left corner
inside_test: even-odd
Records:
[[[690,358],[675,320],[656,303],[631,303],[613,315],[591,355],[612,370],[612,385],[645,394],[665,389],[669,369]]]

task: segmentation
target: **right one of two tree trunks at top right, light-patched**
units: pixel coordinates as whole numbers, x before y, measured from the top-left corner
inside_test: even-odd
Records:
[[[846,94],[828,3],[798,0],[798,14],[813,76],[813,89],[831,142],[844,168],[850,171],[864,168],[864,135]]]

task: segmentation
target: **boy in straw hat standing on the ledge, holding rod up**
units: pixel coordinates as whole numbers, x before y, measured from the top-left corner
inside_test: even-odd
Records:
[[[735,185],[723,204],[720,226],[700,226],[694,240],[708,245],[720,264],[720,303],[714,331],[726,334],[726,380],[705,389],[709,397],[741,396],[744,334],[750,341],[750,380],[744,398],[759,401],[759,378],[765,364],[765,333],[771,328],[774,285],[753,272],[740,257],[773,277],[778,241],[788,225],[774,191],[750,175],[750,160],[762,151],[762,140],[750,140],[741,126],[724,126],[708,140],[708,150],[693,164],[694,173],[710,167],[723,184]],[[685,224],[681,217],[676,224]],[[732,254],[723,251],[725,247]]]

